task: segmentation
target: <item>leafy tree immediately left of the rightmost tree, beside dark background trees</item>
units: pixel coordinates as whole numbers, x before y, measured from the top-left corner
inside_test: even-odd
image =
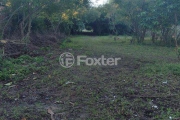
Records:
[[[138,43],[142,43],[145,38],[147,27],[141,24],[141,20],[144,18],[144,15],[146,15],[149,0],[115,0],[114,2],[120,6],[124,23],[133,31],[132,41],[136,39]]]

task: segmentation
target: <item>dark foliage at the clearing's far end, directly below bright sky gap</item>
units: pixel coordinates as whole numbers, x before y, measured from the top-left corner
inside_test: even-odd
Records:
[[[91,8],[86,12],[85,25],[93,29],[95,35],[129,33],[126,24],[122,23],[122,15],[117,4],[106,4]]]

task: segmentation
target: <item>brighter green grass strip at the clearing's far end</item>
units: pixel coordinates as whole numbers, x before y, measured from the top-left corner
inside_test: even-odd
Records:
[[[67,44],[67,47],[84,48],[87,51],[101,54],[123,54],[138,59],[150,61],[169,61],[177,59],[174,48],[159,47],[155,45],[130,44],[130,37],[120,37],[120,40],[114,41],[113,37],[73,37],[73,43]],[[80,47],[81,46],[81,47]]]

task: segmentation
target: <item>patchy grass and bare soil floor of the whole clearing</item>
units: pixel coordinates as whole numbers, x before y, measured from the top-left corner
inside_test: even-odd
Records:
[[[1,119],[49,119],[49,107],[55,118],[68,120],[180,118],[180,64],[173,48],[130,45],[128,37],[116,42],[112,37],[70,39],[72,43],[45,56],[46,73],[30,75],[17,84],[23,87],[1,85]],[[65,51],[122,61],[115,67],[63,69],[58,57]]]

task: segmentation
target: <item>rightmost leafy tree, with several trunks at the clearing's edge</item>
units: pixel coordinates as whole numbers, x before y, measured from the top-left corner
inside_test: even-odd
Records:
[[[169,0],[157,0],[151,1],[151,11],[149,16],[142,22],[149,26],[149,29],[154,32],[152,40],[154,42],[154,36],[157,31],[160,31],[161,41],[163,44],[171,46],[174,44],[174,40],[177,41],[177,25],[178,25],[178,14],[179,1]],[[148,24],[147,24],[148,23]],[[177,44],[177,42],[175,42]]]

